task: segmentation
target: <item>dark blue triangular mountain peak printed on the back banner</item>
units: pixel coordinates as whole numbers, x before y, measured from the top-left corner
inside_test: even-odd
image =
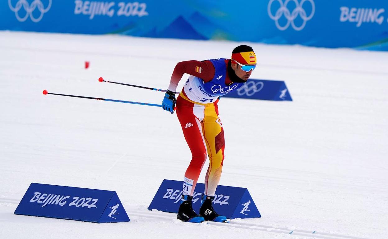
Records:
[[[156,34],[161,38],[180,38],[192,40],[208,40],[199,34],[182,16],[179,16],[171,24]]]

